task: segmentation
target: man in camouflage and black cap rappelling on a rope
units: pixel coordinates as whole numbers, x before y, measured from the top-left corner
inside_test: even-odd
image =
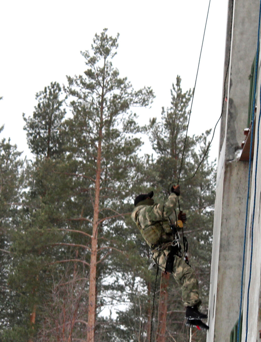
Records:
[[[132,219],[152,250],[152,259],[164,272],[172,273],[182,288],[182,301],[186,307],[187,324],[208,329],[201,319],[207,315],[198,311],[201,299],[194,270],[182,258],[179,241],[169,224],[169,216],[175,211],[176,195],[180,195],[179,185],[171,188],[171,194],[164,205],[154,203],[153,191],[135,198]],[[186,214],[179,212],[178,219],[184,223]]]

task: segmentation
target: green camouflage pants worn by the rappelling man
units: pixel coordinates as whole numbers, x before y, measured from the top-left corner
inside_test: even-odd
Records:
[[[165,271],[169,250],[153,251],[152,259]],[[198,282],[194,270],[186,264],[183,258],[175,255],[172,269],[174,279],[182,288],[182,301],[184,306],[200,305],[198,295]]]

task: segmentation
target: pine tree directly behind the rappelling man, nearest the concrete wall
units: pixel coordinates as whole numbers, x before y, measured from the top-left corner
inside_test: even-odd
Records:
[[[207,154],[196,175],[192,177],[206,151],[207,136],[210,131],[192,137],[188,136],[184,148],[189,117],[187,108],[191,101],[191,96],[191,90],[182,92],[181,78],[178,76],[176,84],[173,84],[171,90],[171,106],[167,109],[163,107],[160,121],[157,121],[155,118],[150,120],[147,132],[156,154],[155,156],[147,156],[143,178],[141,177],[140,182],[143,187],[140,189],[140,193],[154,190],[153,198],[155,202],[164,202],[168,197],[170,186],[177,184],[179,172],[181,171],[179,181],[181,187],[181,195],[179,197],[180,208],[187,213],[188,218],[187,224],[184,227],[184,234],[189,241],[189,260],[195,269],[199,281],[200,295],[203,299],[202,310],[205,311],[208,304],[209,291],[212,222],[215,200],[215,169],[214,163],[208,161]],[[183,163],[180,169],[183,148]],[[178,206],[176,211],[178,213]],[[175,222],[175,215],[171,216],[171,220]],[[140,241],[138,232],[136,243],[139,244],[136,248],[136,253],[146,261],[150,251]],[[144,267],[147,267],[148,264],[149,261],[147,263],[144,262]],[[132,270],[135,270],[134,265]],[[142,269],[141,267],[139,273],[144,291],[143,294],[150,296],[149,298],[153,297],[155,272],[154,268],[154,272],[151,273],[151,278],[149,278],[147,269]],[[162,274],[162,277],[161,284],[164,284],[164,286],[161,286],[160,281],[158,281],[156,287],[155,309],[158,307],[159,311],[158,313],[154,312],[152,339],[155,334],[156,341],[158,342],[168,341],[168,336],[171,336],[170,340],[183,341],[188,338],[188,331],[184,326],[185,310],[181,301],[181,290],[171,275],[168,278]],[[137,331],[142,331],[139,334],[139,340],[149,342],[150,330],[146,327],[150,325],[150,318],[148,318],[150,308],[143,302],[141,307],[147,311],[140,312],[137,320],[133,318],[132,327],[130,328],[127,317],[135,317],[136,303],[144,300],[144,298],[138,291],[128,298],[132,304],[129,305],[127,311],[119,312],[118,320],[124,327],[123,330],[129,331],[130,329],[131,331],[133,326],[135,326],[136,333]],[[148,301],[148,297],[145,296],[145,298]],[[164,298],[167,298],[167,302],[164,302]],[[160,303],[158,302],[159,300]],[[140,330],[139,322],[142,322]],[[166,329],[164,328],[165,326]],[[144,334],[145,331],[146,333]],[[204,338],[204,333],[197,333],[197,341],[203,341]],[[134,335],[133,340],[135,340]]]

